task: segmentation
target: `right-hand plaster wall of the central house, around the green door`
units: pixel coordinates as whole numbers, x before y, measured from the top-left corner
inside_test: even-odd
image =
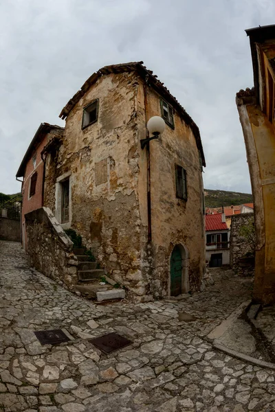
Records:
[[[145,99],[145,104],[144,104]],[[161,116],[159,95],[140,81],[137,126],[139,139],[145,137],[146,119]],[[186,250],[188,284],[199,290],[205,267],[203,181],[199,152],[190,126],[174,111],[175,129],[166,125],[164,133],[150,143],[152,244],[142,254],[142,273],[148,279],[147,293],[154,297],[170,294],[170,255],[177,244]],[[146,150],[141,150],[139,195],[142,225],[146,225]],[[187,174],[187,201],[176,197],[175,165]],[[188,290],[184,290],[187,292]]]

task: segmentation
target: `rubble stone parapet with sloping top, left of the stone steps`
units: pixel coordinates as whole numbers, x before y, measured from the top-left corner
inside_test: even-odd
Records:
[[[74,291],[78,282],[72,240],[47,207],[25,214],[28,262],[47,277]]]

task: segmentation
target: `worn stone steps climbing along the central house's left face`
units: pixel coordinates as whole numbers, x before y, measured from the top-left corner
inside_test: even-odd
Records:
[[[115,282],[107,279],[107,284],[100,285],[100,278],[107,277],[103,269],[97,268],[98,262],[90,262],[89,255],[85,255],[85,249],[73,249],[78,260],[78,283],[76,290],[88,299],[98,299],[100,301],[108,299],[123,299],[125,292],[123,289],[113,288]],[[108,292],[109,291],[109,292]],[[105,294],[98,292],[106,292]]]

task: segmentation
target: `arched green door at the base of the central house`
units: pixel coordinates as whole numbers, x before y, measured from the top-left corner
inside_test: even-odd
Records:
[[[188,252],[177,244],[170,257],[170,296],[188,293]]]

